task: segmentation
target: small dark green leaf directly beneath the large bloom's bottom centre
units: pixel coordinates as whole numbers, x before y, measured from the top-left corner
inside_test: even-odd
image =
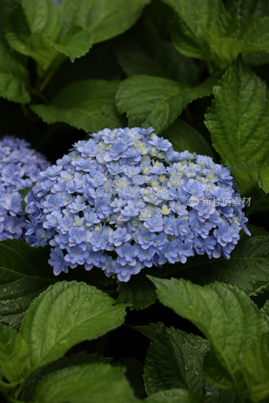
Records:
[[[119,282],[117,303],[127,304],[130,309],[144,309],[156,301],[153,284],[144,274],[132,276],[127,283]]]

